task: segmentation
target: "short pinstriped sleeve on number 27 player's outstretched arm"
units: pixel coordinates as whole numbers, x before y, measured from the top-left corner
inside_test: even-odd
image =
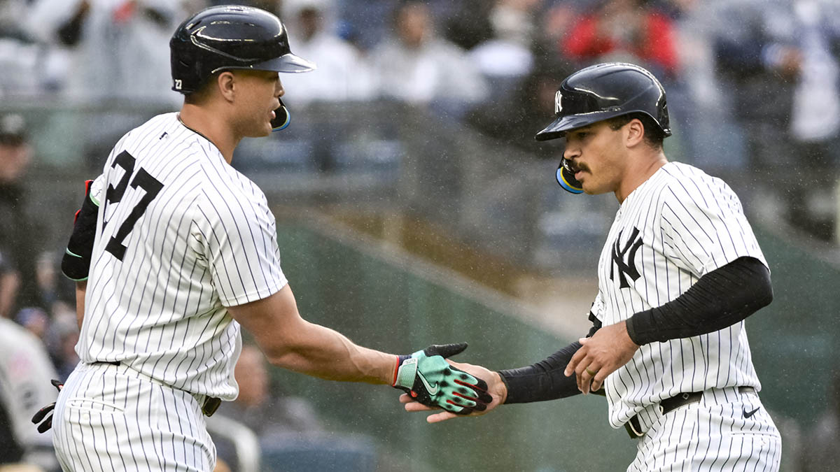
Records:
[[[265,197],[208,197],[197,206],[202,258],[225,307],[255,302],[286,285],[277,229]]]

